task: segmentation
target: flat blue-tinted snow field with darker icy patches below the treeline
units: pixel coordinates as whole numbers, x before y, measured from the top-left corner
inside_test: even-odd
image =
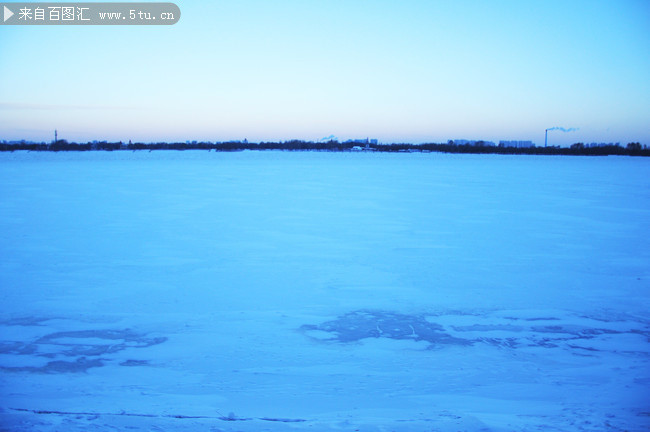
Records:
[[[650,160],[0,154],[2,431],[650,428]]]

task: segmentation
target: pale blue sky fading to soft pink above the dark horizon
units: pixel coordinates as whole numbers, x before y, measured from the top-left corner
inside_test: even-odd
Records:
[[[0,140],[650,145],[650,2],[177,1],[0,26]]]

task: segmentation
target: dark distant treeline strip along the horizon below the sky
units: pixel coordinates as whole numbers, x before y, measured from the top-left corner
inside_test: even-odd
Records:
[[[214,151],[242,151],[242,150],[285,150],[285,151],[375,151],[375,152],[442,152],[442,153],[474,153],[474,154],[529,154],[529,155],[627,155],[650,156],[650,149],[638,142],[620,145],[605,145],[598,147],[585,146],[576,143],[570,147],[507,147],[488,145],[456,145],[447,144],[364,144],[358,142],[312,142],[292,140],[284,142],[249,143],[241,141],[228,141],[220,143],[196,142],[191,143],[123,143],[123,142],[89,142],[85,144],[58,140],[52,143],[13,142],[0,143],[0,151],[120,151],[120,150],[214,150]]]

